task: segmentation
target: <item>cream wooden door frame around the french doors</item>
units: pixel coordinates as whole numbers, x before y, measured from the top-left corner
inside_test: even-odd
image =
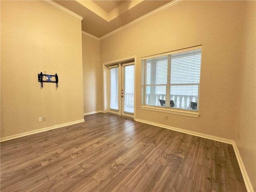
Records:
[[[136,55],[135,56],[130,56],[130,57],[127,57],[127,58],[122,58],[122,59],[118,59],[118,60],[114,60],[114,61],[110,61],[110,62],[105,62],[102,64],[102,67],[103,67],[103,82],[102,82],[102,85],[103,85],[103,112],[106,113],[106,112],[110,112],[110,113],[113,113],[113,114],[118,114],[118,115],[122,115],[122,103],[119,102],[119,110],[118,111],[111,111],[109,110],[109,96],[110,96],[110,74],[109,74],[109,66],[112,66],[112,65],[119,65],[121,63],[126,63],[126,62],[134,62],[134,115],[133,115],[133,118],[134,120],[136,119],[136,68],[137,68],[137,65],[136,65]],[[122,74],[122,65],[121,67],[118,67],[118,72],[119,74]],[[118,76],[118,84],[122,83],[122,76],[119,75]],[[122,96],[122,88],[120,88],[120,91],[118,91],[118,95]]]

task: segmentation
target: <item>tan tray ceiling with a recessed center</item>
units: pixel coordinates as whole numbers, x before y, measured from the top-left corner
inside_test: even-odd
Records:
[[[98,38],[172,0],[54,0],[82,16],[82,30]]]

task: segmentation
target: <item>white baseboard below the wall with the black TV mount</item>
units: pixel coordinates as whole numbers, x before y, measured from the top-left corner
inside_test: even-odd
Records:
[[[59,124],[59,125],[54,125],[54,126],[50,126],[50,127],[46,127],[46,128],[42,128],[42,129],[37,129],[37,130],[33,130],[33,131],[28,131],[28,132],[24,132],[24,133],[19,133],[19,134],[0,138],[0,142],[23,137],[23,136],[28,136],[28,135],[56,129],[56,128],[61,128],[61,127],[65,127],[65,126],[69,126],[69,125],[73,125],[73,124],[77,124],[77,123],[82,123],[82,122],[84,122],[84,119],[80,119],[80,120],[72,121],[72,122],[68,122],[68,123],[63,123],[63,124]]]

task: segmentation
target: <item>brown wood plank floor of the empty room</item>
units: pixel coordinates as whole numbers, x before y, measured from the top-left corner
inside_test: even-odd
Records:
[[[244,192],[232,145],[113,114],[1,142],[1,192]]]

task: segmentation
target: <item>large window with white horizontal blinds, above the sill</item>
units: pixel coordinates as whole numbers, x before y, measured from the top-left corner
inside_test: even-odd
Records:
[[[142,106],[198,111],[202,46],[142,58]]]

